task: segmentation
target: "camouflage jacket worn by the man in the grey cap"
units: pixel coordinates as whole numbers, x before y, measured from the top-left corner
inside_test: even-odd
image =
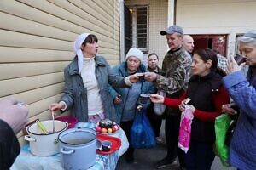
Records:
[[[184,48],[176,51],[169,50],[163,60],[162,74],[158,75],[155,87],[166,92],[166,96],[177,99],[188,88],[190,65],[192,59]],[[167,114],[179,115],[180,111],[170,107],[166,108]]]

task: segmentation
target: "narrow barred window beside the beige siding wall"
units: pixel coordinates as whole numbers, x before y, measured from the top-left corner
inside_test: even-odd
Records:
[[[131,13],[131,46],[148,52],[148,6],[129,8]]]

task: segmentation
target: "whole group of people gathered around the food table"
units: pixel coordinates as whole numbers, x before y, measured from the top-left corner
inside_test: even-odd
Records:
[[[177,164],[178,160],[180,169],[207,170],[215,157],[215,118],[223,111],[236,113],[230,108],[232,99],[239,107],[239,116],[230,143],[230,165],[239,170],[256,169],[256,31],[248,31],[237,40],[239,52],[246,58],[241,65],[232,57],[224,58],[224,65],[220,65],[221,58],[212,49],[194,52],[193,38],[184,35],[180,26],[169,26],[160,35],[166,36],[169,47],[161,69],[154,53],[148,54],[148,65],[143,65],[144,54],[138,48],[130,48],[125,61],[111,68],[97,54],[97,37],[79,35],[73,47],[76,55],[64,70],[63,96],[49,105],[49,110],[71,110],[79,122],[108,118],[119,123],[128,140],[137,112],[147,111],[156,137],[160,136],[162,119],[166,120],[166,156],[157,168]],[[241,71],[244,65],[249,67],[247,76]],[[166,97],[156,94],[157,90],[164,91]],[[149,94],[152,103],[149,99],[142,103],[141,94]],[[188,97],[191,100],[186,104]],[[0,169],[8,169],[20,153],[15,134],[25,126],[28,111],[17,103],[16,99],[0,100]],[[167,105],[164,116],[154,114],[154,103]],[[181,113],[187,106],[194,119],[189,150],[184,153],[178,147],[178,135]],[[134,161],[133,154],[129,146],[127,162]]]

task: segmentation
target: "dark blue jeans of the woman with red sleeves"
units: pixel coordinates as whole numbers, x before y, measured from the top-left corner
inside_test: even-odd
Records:
[[[185,165],[187,170],[210,170],[214,157],[212,144],[191,139],[189,150],[185,154]]]

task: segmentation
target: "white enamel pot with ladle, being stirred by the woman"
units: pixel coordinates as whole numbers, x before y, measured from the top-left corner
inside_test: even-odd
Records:
[[[42,121],[41,123],[49,133],[44,134],[37,123],[26,128],[28,135],[24,139],[29,141],[32,154],[35,156],[52,156],[59,153],[58,135],[67,128],[67,122],[55,120],[55,133],[52,133],[52,120]]]

